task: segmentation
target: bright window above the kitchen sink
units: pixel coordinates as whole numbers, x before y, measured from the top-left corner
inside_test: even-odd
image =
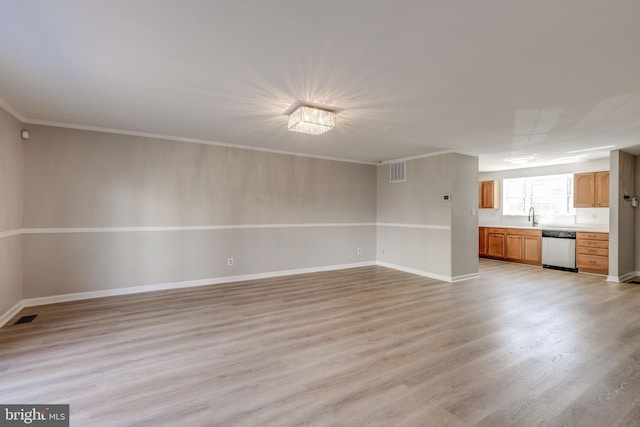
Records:
[[[548,175],[503,181],[503,215],[575,215],[573,175]]]

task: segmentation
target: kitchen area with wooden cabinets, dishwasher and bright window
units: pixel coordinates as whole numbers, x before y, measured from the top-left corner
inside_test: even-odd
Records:
[[[609,171],[602,166],[481,173],[479,256],[606,276]]]

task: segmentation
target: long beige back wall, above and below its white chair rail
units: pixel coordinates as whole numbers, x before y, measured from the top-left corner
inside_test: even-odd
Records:
[[[25,298],[375,261],[375,166],[30,130]]]

